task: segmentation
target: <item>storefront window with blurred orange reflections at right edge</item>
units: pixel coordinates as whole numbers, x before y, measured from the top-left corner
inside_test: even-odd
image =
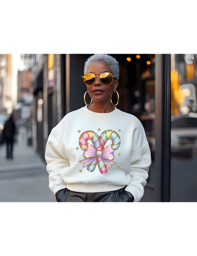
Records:
[[[171,52],[171,203],[197,203],[197,53]]]

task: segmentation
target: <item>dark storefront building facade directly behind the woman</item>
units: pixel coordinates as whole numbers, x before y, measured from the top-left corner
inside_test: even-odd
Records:
[[[33,141],[42,157],[53,127],[65,114],[84,106],[87,89],[81,76],[86,59],[93,54],[32,53]],[[193,196],[197,192],[196,53],[108,54],[120,63],[117,108],[139,118],[152,152],[141,203],[197,203]]]

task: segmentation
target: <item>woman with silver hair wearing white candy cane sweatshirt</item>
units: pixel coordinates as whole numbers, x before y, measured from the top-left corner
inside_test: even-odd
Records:
[[[96,52],[87,59],[83,80],[92,101],[86,93],[86,106],[67,114],[48,138],[49,187],[58,204],[137,204],[143,197],[150,148],[140,121],[111,101],[118,79],[115,58]]]

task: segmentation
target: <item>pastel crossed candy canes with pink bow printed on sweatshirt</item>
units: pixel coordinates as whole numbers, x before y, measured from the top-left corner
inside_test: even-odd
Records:
[[[88,143],[91,140],[93,145]],[[105,148],[106,142],[112,141],[112,144]],[[101,174],[107,173],[107,166],[112,169],[112,164],[117,164],[114,151],[120,146],[121,140],[118,133],[112,130],[107,130],[98,136],[93,131],[87,131],[81,134],[79,139],[80,147],[84,152],[84,160],[79,162],[84,163],[83,168],[87,166],[88,171],[93,172],[98,164]],[[112,169],[113,170],[113,169]]]

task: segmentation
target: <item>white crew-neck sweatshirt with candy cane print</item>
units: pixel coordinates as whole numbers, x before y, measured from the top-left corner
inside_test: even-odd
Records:
[[[67,114],[52,130],[45,159],[49,188],[97,193],[125,190],[138,203],[144,193],[151,153],[142,123],[115,107],[111,113],[87,106]]]

